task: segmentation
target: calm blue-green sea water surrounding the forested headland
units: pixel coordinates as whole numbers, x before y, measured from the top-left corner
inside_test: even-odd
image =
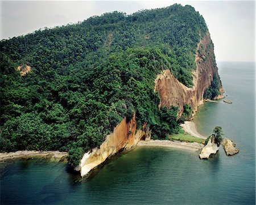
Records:
[[[1,171],[1,204],[255,204],[254,64],[218,67],[233,104],[208,102],[195,123],[204,135],[222,126],[238,155],[221,148],[200,160],[199,152],[139,147],[82,181],[65,164],[15,160]]]

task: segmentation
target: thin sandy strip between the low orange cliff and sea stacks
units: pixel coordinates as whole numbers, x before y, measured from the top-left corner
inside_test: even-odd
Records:
[[[138,147],[151,146],[151,147],[171,147],[179,148],[183,150],[192,150],[197,151],[201,150],[204,147],[204,144],[198,142],[181,142],[178,140],[150,140],[150,141],[139,141],[137,144]]]

